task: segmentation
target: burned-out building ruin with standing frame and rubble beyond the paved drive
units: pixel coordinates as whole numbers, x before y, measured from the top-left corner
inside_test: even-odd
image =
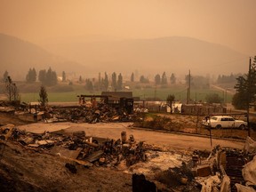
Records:
[[[133,113],[132,92],[102,92],[101,95],[78,95],[73,106],[46,106],[39,103],[0,102],[0,112],[17,115],[28,121],[46,122],[127,122],[137,118]]]

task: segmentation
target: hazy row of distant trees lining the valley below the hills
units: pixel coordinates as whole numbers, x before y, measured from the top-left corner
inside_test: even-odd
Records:
[[[8,76],[8,72],[5,71],[4,79]],[[217,84],[236,84],[236,78],[239,75],[233,75],[232,73],[229,76],[220,75],[218,76],[217,80],[215,81]],[[65,71],[62,72],[62,82],[68,82],[69,85],[73,84],[74,79],[68,79]],[[126,76],[127,78],[127,76]],[[129,77],[128,77],[129,78]],[[126,79],[127,80],[127,79]],[[58,76],[52,68],[41,69],[39,72],[36,72],[35,68],[29,68],[28,74],[26,75],[26,82],[31,84],[35,83],[36,81],[41,82],[45,86],[53,86],[58,84]],[[149,79],[148,76],[138,76],[134,75],[134,73],[130,76],[130,82],[136,82],[140,84],[152,84],[161,85],[162,87],[166,87],[167,84],[190,84],[192,88],[203,88],[207,89],[210,87],[210,82],[213,81],[208,76],[188,76],[186,75],[183,79],[178,79],[174,73],[171,76],[167,76],[165,72],[162,74],[156,74],[152,78]],[[5,80],[4,80],[5,82]],[[94,78],[85,78],[83,79],[82,76],[79,77],[77,80],[79,84],[84,84],[84,89],[88,91],[121,91],[124,89],[124,78],[121,73],[117,74],[113,72],[112,74],[108,75],[107,72],[103,74],[103,76],[94,77]],[[129,82],[129,80],[128,80]],[[137,87],[140,87],[140,84],[133,84]]]

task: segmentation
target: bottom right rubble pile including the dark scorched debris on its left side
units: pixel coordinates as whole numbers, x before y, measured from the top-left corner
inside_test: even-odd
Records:
[[[248,137],[243,150],[220,146],[211,153],[195,150],[188,164],[159,172],[155,180],[174,191],[255,192],[256,141]]]

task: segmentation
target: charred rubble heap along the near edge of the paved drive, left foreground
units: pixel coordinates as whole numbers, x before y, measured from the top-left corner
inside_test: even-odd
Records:
[[[50,153],[84,166],[116,166],[125,161],[127,166],[146,161],[143,142],[136,142],[132,135],[122,139],[92,139],[84,131],[73,133],[44,132],[42,134],[20,131],[13,124],[0,127],[0,138],[19,142],[24,148]],[[69,166],[68,166],[69,167]]]

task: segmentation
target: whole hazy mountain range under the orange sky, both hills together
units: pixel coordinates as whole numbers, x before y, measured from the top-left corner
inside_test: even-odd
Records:
[[[249,57],[220,44],[184,36],[76,41],[48,45],[43,49],[2,34],[0,59],[2,74],[8,70],[15,72],[15,76],[25,78],[29,68],[39,70],[49,67],[59,74],[65,70],[84,77],[95,77],[105,71],[129,76],[135,70],[145,76],[162,74],[164,71],[167,75],[184,75],[188,74],[189,69],[194,75],[229,75],[245,73]]]

